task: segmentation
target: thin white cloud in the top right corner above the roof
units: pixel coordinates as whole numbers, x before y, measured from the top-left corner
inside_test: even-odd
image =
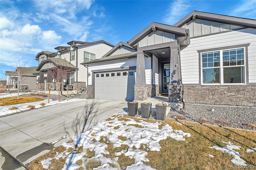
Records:
[[[255,7],[255,0],[243,0],[228,15],[256,19]]]

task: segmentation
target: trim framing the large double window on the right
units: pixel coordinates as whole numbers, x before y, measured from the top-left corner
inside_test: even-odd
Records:
[[[248,77],[248,46],[249,45],[250,45],[250,43],[245,43],[245,44],[239,44],[239,45],[230,45],[230,46],[226,46],[226,47],[197,50],[198,58],[199,58],[199,70],[198,70],[199,71],[199,85],[221,85],[221,86],[224,86],[224,85],[250,85],[250,84],[253,84],[253,83],[249,83],[249,77]],[[204,84],[203,83],[203,74],[202,74],[202,69],[203,69],[202,68],[202,53],[211,52],[211,51],[221,51],[220,53],[222,53],[223,50],[237,49],[237,48],[244,48],[244,65],[242,65],[244,67],[244,83],[222,83],[223,79],[220,79],[220,83],[218,83],[218,84],[214,84],[214,83]],[[221,57],[222,57],[222,54],[221,54]],[[239,67],[239,65],[236,67]],[[220,75],[220,77],[221,77],[221,76],[223,76],[222,75],[223,67],[221,67],[220,72],[221,72],[221,75]]]

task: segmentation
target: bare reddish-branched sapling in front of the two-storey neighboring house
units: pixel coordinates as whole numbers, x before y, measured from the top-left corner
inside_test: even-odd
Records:
[[[58,100],[60,101],[60,90],[62,83],[66,80],[68,76],[69,69],[66,66],[58,65],[57,67],[51,68],[47,71],[47,75],[55,79],[56,84],[58,85]]]

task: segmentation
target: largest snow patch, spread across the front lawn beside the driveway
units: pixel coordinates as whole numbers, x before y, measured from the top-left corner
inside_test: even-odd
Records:
[[[184,141],[186,137],[190,137],[190,133],[183,132],[182,130],[173,130],[170,125],[164,125],[160,129],[158,125],[161,125],[160,122],[149,123],[144,120],[136,122],[134,119],[123,118],[127,113],[117,113],[118,117],[111,117],[111,120],[102,121],[84,133],[74,136],[72,139],[74,142],[68,143],[64,142],[62,146],[68,150],[68,148],[73,148],[76,150],[76,147],[83,147],[83,152],[81,153],[72,153],[66,158],[66,163],[63,170],[79,168],[81,165],[77,165],[77,160],[82,160],[84,162],[88,160],[100,160],[101,165],[95,169],[120,169],[110,166],[110,164],[115,164],[117,167],[118,156],[124,154],[124,156],[129,156],[129,158],[134,158],[134,164],[127,166],[126,169],[129,170],[153,170],[151,166],[145,165],[142,161],[148,162],[146,158],[148,152],[147,150],[160,151],[160,140],[164,140],[167,137],[173,138],[178,141]],[[120,136],[124,137],[121,138]],[[125,138],[126,137],[126,138]],[[106,139],[102,142],[99,142],[102,139]],[[121,140],[121,139],[122,140]],[[96,141],[95,141],[96,140]],[[94,141],[94,142],[93,142]],[[109,154],[107,148],[108,143],[113,144],[113,147],[120,147],[122,144],[127,145],[127,150],[121,150],[115,152],[116,158],[114,160],[107,158],[104,154]],[[143,150],[140,150],[141,146],[144,146]],[[86,155],[86,150],[94,150],[95,155],[92,158],[85,158],[83,155]],[[44,161],[46,164],[47,160]],[[84,166],[84,165],[82,165]]]

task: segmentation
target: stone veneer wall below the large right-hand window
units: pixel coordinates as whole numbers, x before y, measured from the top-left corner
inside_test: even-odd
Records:
[[[256,106],[256,85],[185,85],[185,103]]]

